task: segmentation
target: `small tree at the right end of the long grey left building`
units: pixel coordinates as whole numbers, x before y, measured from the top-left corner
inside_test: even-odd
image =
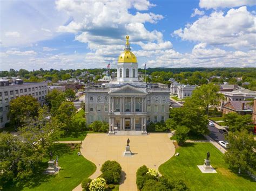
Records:
[[[51,115],[55,116],[58,112],[59,106],[65,101],[65,95],[62,91],[53,89],[45,96],[45,104],[48,105]]]

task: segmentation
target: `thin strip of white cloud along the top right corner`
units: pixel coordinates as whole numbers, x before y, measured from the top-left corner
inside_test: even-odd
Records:
[[[243,5],[256,5],[255,0],[200,0],[200,8],[217,9],[217,8],[233,8]]]

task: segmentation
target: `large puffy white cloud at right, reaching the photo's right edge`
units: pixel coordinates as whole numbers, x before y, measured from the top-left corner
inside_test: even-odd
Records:
[[[256,17],[247,11],[246,6],[223,12],[213,12],[184,29],[173,32],[183,40],[224,45],[234,48],[255,48]]]

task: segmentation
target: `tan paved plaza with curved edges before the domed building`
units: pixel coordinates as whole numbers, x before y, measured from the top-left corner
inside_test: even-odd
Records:
[[[127,138],[130,139],[132,157],[124,157]],[[167,133],[151,133],[148,136],[108,136],[106,134],[87,134],[80,149],[82,155],[92,161],[96,172],[90,176],[97,178],[100,167],[106,160],[116,160],[122,166],[120,190],[137,190],[136,172],[140,166],[158,169],[175,153],[175,148]],[[75,188],[79,190],[80,185]],[[82,189],[82,188],[81,188]]]

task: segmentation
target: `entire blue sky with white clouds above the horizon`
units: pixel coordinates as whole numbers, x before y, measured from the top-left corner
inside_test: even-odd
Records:
[[[117,65],[255,67],[252,0],[1,1],[0,70]]]

